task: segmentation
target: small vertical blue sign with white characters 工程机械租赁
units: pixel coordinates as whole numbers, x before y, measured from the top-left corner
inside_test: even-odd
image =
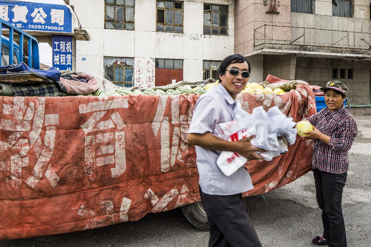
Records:
[[[72,36],[53,35],[53,67],[72,71]]]

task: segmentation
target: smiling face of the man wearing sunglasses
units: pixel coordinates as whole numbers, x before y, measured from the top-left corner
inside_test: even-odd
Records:
[[[243,63],[232,63],[227,69],[237,69],[239,71],[249,71],[249,65],[245,62]],[[243,78],[241,73],[237,76],[232,76],[229,73],[229,70],[226,70],[226,73],[221,76],[219,75],[221,84],[228,91],[230,96],[233,99],[236,99],[237,94],[239,94],[246,86],[246,83],[249,81],[249,78]]]

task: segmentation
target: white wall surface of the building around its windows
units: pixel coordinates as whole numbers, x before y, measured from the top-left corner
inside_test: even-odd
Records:
[[[134,66],[151,58],[183,59],[183,79],[202,80],[203,60],[223,60],[234,50],[234,1],[208,2],[230,5],[228,36],[203,34],[203,0],[184,1],[184,33],[155,31],[156,0],[135,0],[135,31],[104,29],[104,0],[70,0],[83,29],[92,37],[89,42],[76,41],[76,70],[103,76],[105,56],[134,57]],[[134,74],[135,80],[147,76],[151,75]]]

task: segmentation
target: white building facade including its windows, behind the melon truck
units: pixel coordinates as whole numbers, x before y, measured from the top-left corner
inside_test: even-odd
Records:
[[[204,64],[234,53],[233,2],[70,0],[92,39],[76,41],[76,69],[128,87],[203,80]]]

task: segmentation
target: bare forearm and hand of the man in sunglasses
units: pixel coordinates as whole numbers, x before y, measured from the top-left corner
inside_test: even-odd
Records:
[[[188,133],[187,137],[188,144],[211,150],[237,152],[247,158],[247,160],[263,159],[263,157],[257,155],[255,152],[265,152],[264,149],[255,147],[251,144],[251,140],[255,138],[255,135],[239,141],[226,141],[213,136],[209,132],[204,134]]]

